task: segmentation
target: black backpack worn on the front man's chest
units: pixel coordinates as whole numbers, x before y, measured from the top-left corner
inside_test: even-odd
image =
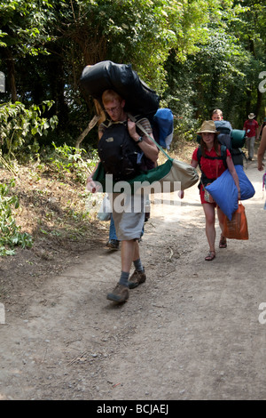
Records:
[[[98,156],[113,181],[133,179],[140,173],[143,153],[130,137],[127,122],[109,125],[98,141]]]

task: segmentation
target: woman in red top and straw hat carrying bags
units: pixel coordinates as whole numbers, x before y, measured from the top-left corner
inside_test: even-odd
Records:
[[[215,128],[215,123],[212,120],[205,121],[200,127],[200,161],[198,161],[198,149],[195,149],[192,155],[192,167],[197,168],[200,164],[200,170],[202,177],[200,181],[200,200],[203,206],[206,220],[206,236],[207,242],[209,245],[209,253],[205,257],[206,261],[212,261],[215,259],[215,207],[216,204],[209,203],[205,200],[205,186],[208,183],[215,181],[225,170],[226,166],[224,165],[223,160],[226,161],[226,165],[235,181],[235,184],[239,190],[240,198],[240,189],[239,189],[239,176],[236,172],[235,166],[231,160],[231,153],[226,149],[226,156],[223,158],[221,155],[221,145],[218,142],[217,136],[218,133]],[[210,159],[211,157],[213,159]],[[203,184],[202,184],[203,183]],[[217,206],[217,215],[220,224],[220,228],[223,227],[224,213]],[[219,247],[226,248],[226,238],[221,234]]]

